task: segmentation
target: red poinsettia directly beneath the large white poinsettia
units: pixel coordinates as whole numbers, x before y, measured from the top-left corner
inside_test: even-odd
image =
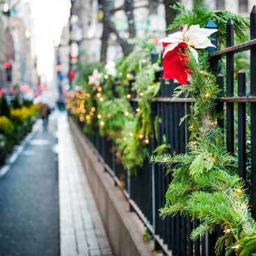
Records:
[[[163,42],[163,51],[168,43]],[[186,85],[188,81],[189,67],[188,56],[185,50],[188,45],[179,43],[172,51],[168,51],[163,58],[163,79],[176,79],[180,84]]]

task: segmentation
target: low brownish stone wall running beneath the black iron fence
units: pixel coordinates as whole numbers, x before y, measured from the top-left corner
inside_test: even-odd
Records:
[[[153,255],[153,244],[142,238],[145,227],[138,216],[129,211],[129,203],[113,179],[99,162],[77,124],[70,118],[70,129],[83,168],[88,177],[97,207],[115,256]]]

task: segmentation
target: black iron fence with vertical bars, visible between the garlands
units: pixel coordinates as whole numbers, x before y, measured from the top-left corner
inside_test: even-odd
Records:
[[[234,74],[234,55],[241,51],[247,51],[250,58],[250,74],[247,80],[246,73],[242,70]],[[223,79],[223,74],[216,74],[217,83],[222,89],[217,110],[223,111],[223,118],[218,120],[218,125],[225,133],[227,150],[231,154],[237,154],[239,175],[247,181],[248,191],[251,193],[253,216],[256,216],[255,6],[250,14],[250,40],[234,46],[234,25],[232,20],[229,20],[227,48],[211,52],[209,58],[214,72],[217,72],[216,67],[220,61],[226,66],[225,79]],[[180,97],[171,100],[170,96],[173,95],[175,86],[177,84],[173,81],[162,80],[159,95],[152,102],[152,122],[156,116],[159,116],[162,122],[157,129],[159,139],[150,142],[150,151],[162,144],[161,138],[165,135],[166,143],[170,145],[170,154],[186,152],[186,143],[189,141],[188,121],[182,122],[182,125],[179,125],[179,121],[186,113],[189,113],[189,106],[195,102],[195,99]],[[136,109],[136,98],[131,99],[131,105]],[[123,189],[129,200],[131,211],[136,211],[152,234],[156,250],[162,250],[166,255],[170,255],[170,252],[178,256],[215,255],[214,244],[221,234],[221,229],[215,234],[206,234],[202,241],[194,242],[190,239],[190,233],[194,227],[198,226],[198,221],[191,221],[191,218],[179,215],[164,220],[159,217],[159,209],[165,204],[165,194],[172,179],[171,173],[166,174],[161,167],[154,166],[146,160],[137,175],[129,176],[127,170],[124,170],[115,157],[115,145],[112,141],[99,134],[87,137],[97,149],[95,154],[104,163],[106,170],[115,180],[115,184]]]

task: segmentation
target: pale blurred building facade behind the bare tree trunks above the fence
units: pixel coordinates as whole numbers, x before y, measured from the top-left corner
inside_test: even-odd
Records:
[[[187,9],[192,10],[192,0],[182,0]],[[77,9],[77,18],[73,19],[70,34],[70,24],[63,29],[61,37],[61,49],[58,49],[63,70],[67,74],[68,70],[68,45],[71,38],[77,40],[79,44],[79,56],[88,63],[100,61],[100,49],[102,45],[103,13],[99,3],[100,0],[73,0]],[[111,13],[111,20],[115,24],[120,36],[129,40],[127,33],[127,15],[123,7],[125,0],[109,0],[109,6],[116,11]],[[230,10],[248,17],[250,9],[256,4],[256,0],[204,0],[205,6],[211,10]],[[136,36],[138,38],[161,38],[166,35],[165,7],[163,1],[159,0],[134,0],[134,23],[136,26]],[[116,35],[109,36],[109,47],[107,51],[107,61],[115,61],[122,56],[122,49],[117,42]]]

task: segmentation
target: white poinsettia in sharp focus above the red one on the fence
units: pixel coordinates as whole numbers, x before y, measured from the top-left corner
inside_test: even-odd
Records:
[[[173,51],[179,43],[184,42],[188,45],[195,60],[198,61],[198,51],[196,51],[196,49],[216,47],[208,38],[211,34],[216,33],[216,31],[218,31],[218,29],[201,29],[199,25],[185,25],[182,31],[173,33],[166,38],[159,40],[159,42],[168,44],[164,49],[163,57],[168,51]]]

